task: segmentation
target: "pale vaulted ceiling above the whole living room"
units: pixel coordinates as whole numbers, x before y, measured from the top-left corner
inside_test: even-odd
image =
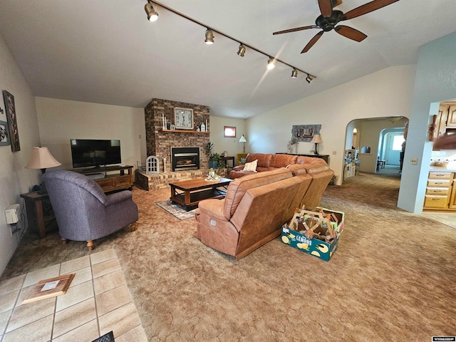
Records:
[[[358,43],[335,31],[309,29],[317,0],[160,0],[221,31],[204,44],[206,28],[154,3],[157,21],[147,21],[146,0],[0,1],[0,33],[34,95],[92,103],[144,107],[151,98],[209,105],[211,114],[250,118],[389,66],[417,63],[419,46],[456,31],[455,0],[400,0],[344,25],[366,33]],[[343,0],[346,13],[366,0]],[[341,23],[342,24],[342,23]],[[276,63],[239,42],[276,56],[317,78],[291,78]]]

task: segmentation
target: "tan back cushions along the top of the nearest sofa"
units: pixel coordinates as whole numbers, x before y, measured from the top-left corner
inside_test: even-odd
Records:
[[[224,198],[224,217],[227,219],[232,217],[232,214],[236,211],[239,202],[241,202],[247,190],[272,182],[278,182],[279,180],[285,180],[289,177],[293,177],[293,174],[290,170],[283,167],[274,171],[258,172],[254,175],[236,178],[229,183],[227,195]]]

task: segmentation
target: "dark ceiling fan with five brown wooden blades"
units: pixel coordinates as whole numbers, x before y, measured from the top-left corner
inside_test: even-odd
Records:
[[[308,30],[309,28],[321,28],[322,31],[316,33],[314,38],[312,38],[311,41],[307,43],[307,45],[303,48],[301,53],[309,51],[309,49],[312,46],[314,46],[318,39],[320,39],[321,36],[323,36],[323,33],[331,31],[332,29],[334,29],[334,31],[341,34],[342,36],[353,39],[353,41],[363,41],[365,38],[367,38],[366,34],[349,26],[337,25],[339,21],[353,19],[357,16],[368,14],[369,12],[393,4],[396,1],[399,0],[373,0],[371,2],[368,2],[367,4],[363,4],[359,7],[356,7],[356,9],[352,9],[351,11],[348,11],[346,14],[344,14],[342,11],[333,9],[333,6],[336,5],[336,0],[318,0],[318,6],[320,6],[321,15],[318,16],[318,18],[316,19],[316,25],[290,28],[289,30],[277,31],[272,34],[275,35],[281,33],[296,32]]]

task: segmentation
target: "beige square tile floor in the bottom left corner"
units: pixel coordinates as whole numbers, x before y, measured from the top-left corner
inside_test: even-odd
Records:
[[[21,305],[40,280],[75,273],[66,294]],[[0,282],[0,342],[147,341],[113,249]]]

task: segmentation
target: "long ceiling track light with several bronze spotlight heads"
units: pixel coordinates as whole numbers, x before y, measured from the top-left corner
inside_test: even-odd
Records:
[[[331,0],[329,0],[329,1],[331,1]],[[268,69],[274,68],[275,63],[279,62],[279,63],[282,63],[282,64],[284,64],[286,66],[289,66],[290,68],[293,69],[293,71],[291,73],[291,77],[292,78],[296,78],[298,76],[298,71],[300,71],[301,73],[307,74],[308,76],[311,76],[311,79],[316,78],[316,76],[311,75],[307,71],[303,71],[303,70],[301,70],[299,68],[296,68],[295,66],[291,66],[291,64],[286,63],[285,61],[282,61],[279,58],[271,57],[271,55],[269,55],[269,53],[261,51],[261,50],[259,50],[259,48],[255,48],[254,46],[247,45],[245,43],[241,43],[239,41],[239,39],[234,38],[232,36],[229,36],[227,33],[223,33],[222,31],[218,31],[218,30],[215,30],[214,28],[210,28],[206,24],[203,24],[200,21],[192,19],[192,18],[190,18],[190,16],[186,16],[185,14],[182,14],[179,11],[175,11],[175,9],[172,9],[172,8],[170,8],[170,7],[168,7],[168,6],[164,5],[164,4],[161,4],[160,2],[147,0],[147,4],[145,4],[144,9],[145,9],[145,12],[147,14],[147,19],[149,19],[150,21],[155,21],[155,20],[158,19],[158,14],[155,11],[155,9],[153,9],[152,4],[157,4],[158,6],[164,8],[164,9],[167,9],[168,11],[170,11],[170,12],[172,12],[174,14],[177,14],[177,16],[180,16],[180,17],[185,18],[185,19],[187,19],[189,21],[192,21],[193,23],[198,24],[199,26],[204,26],[206,28],[206,33],[204,33],[204,37],[205,37],[204,43],[207,43],[207,44],[214,43],[214,32],[217,32],[217,33],[219,33],[219,35],[224,36],[226,38],[231,39],[232,41],[236,41],[237,43],[239,43],[239,49],[237,51],[237,55],[238,56],[244,57],[244,53],[245,53],[246,49],[250,48],[250,49],[252,49],[254,51],[257,51],[258,53],[261,53],[262,55],[266,56],[267,58],[269,58],[268,59],[268,64],[267,64],[267,68]],[[150,19],[151,16],[154,16],[154,20]],[[307,81],[307,82],[310,83],[309,81]]]

